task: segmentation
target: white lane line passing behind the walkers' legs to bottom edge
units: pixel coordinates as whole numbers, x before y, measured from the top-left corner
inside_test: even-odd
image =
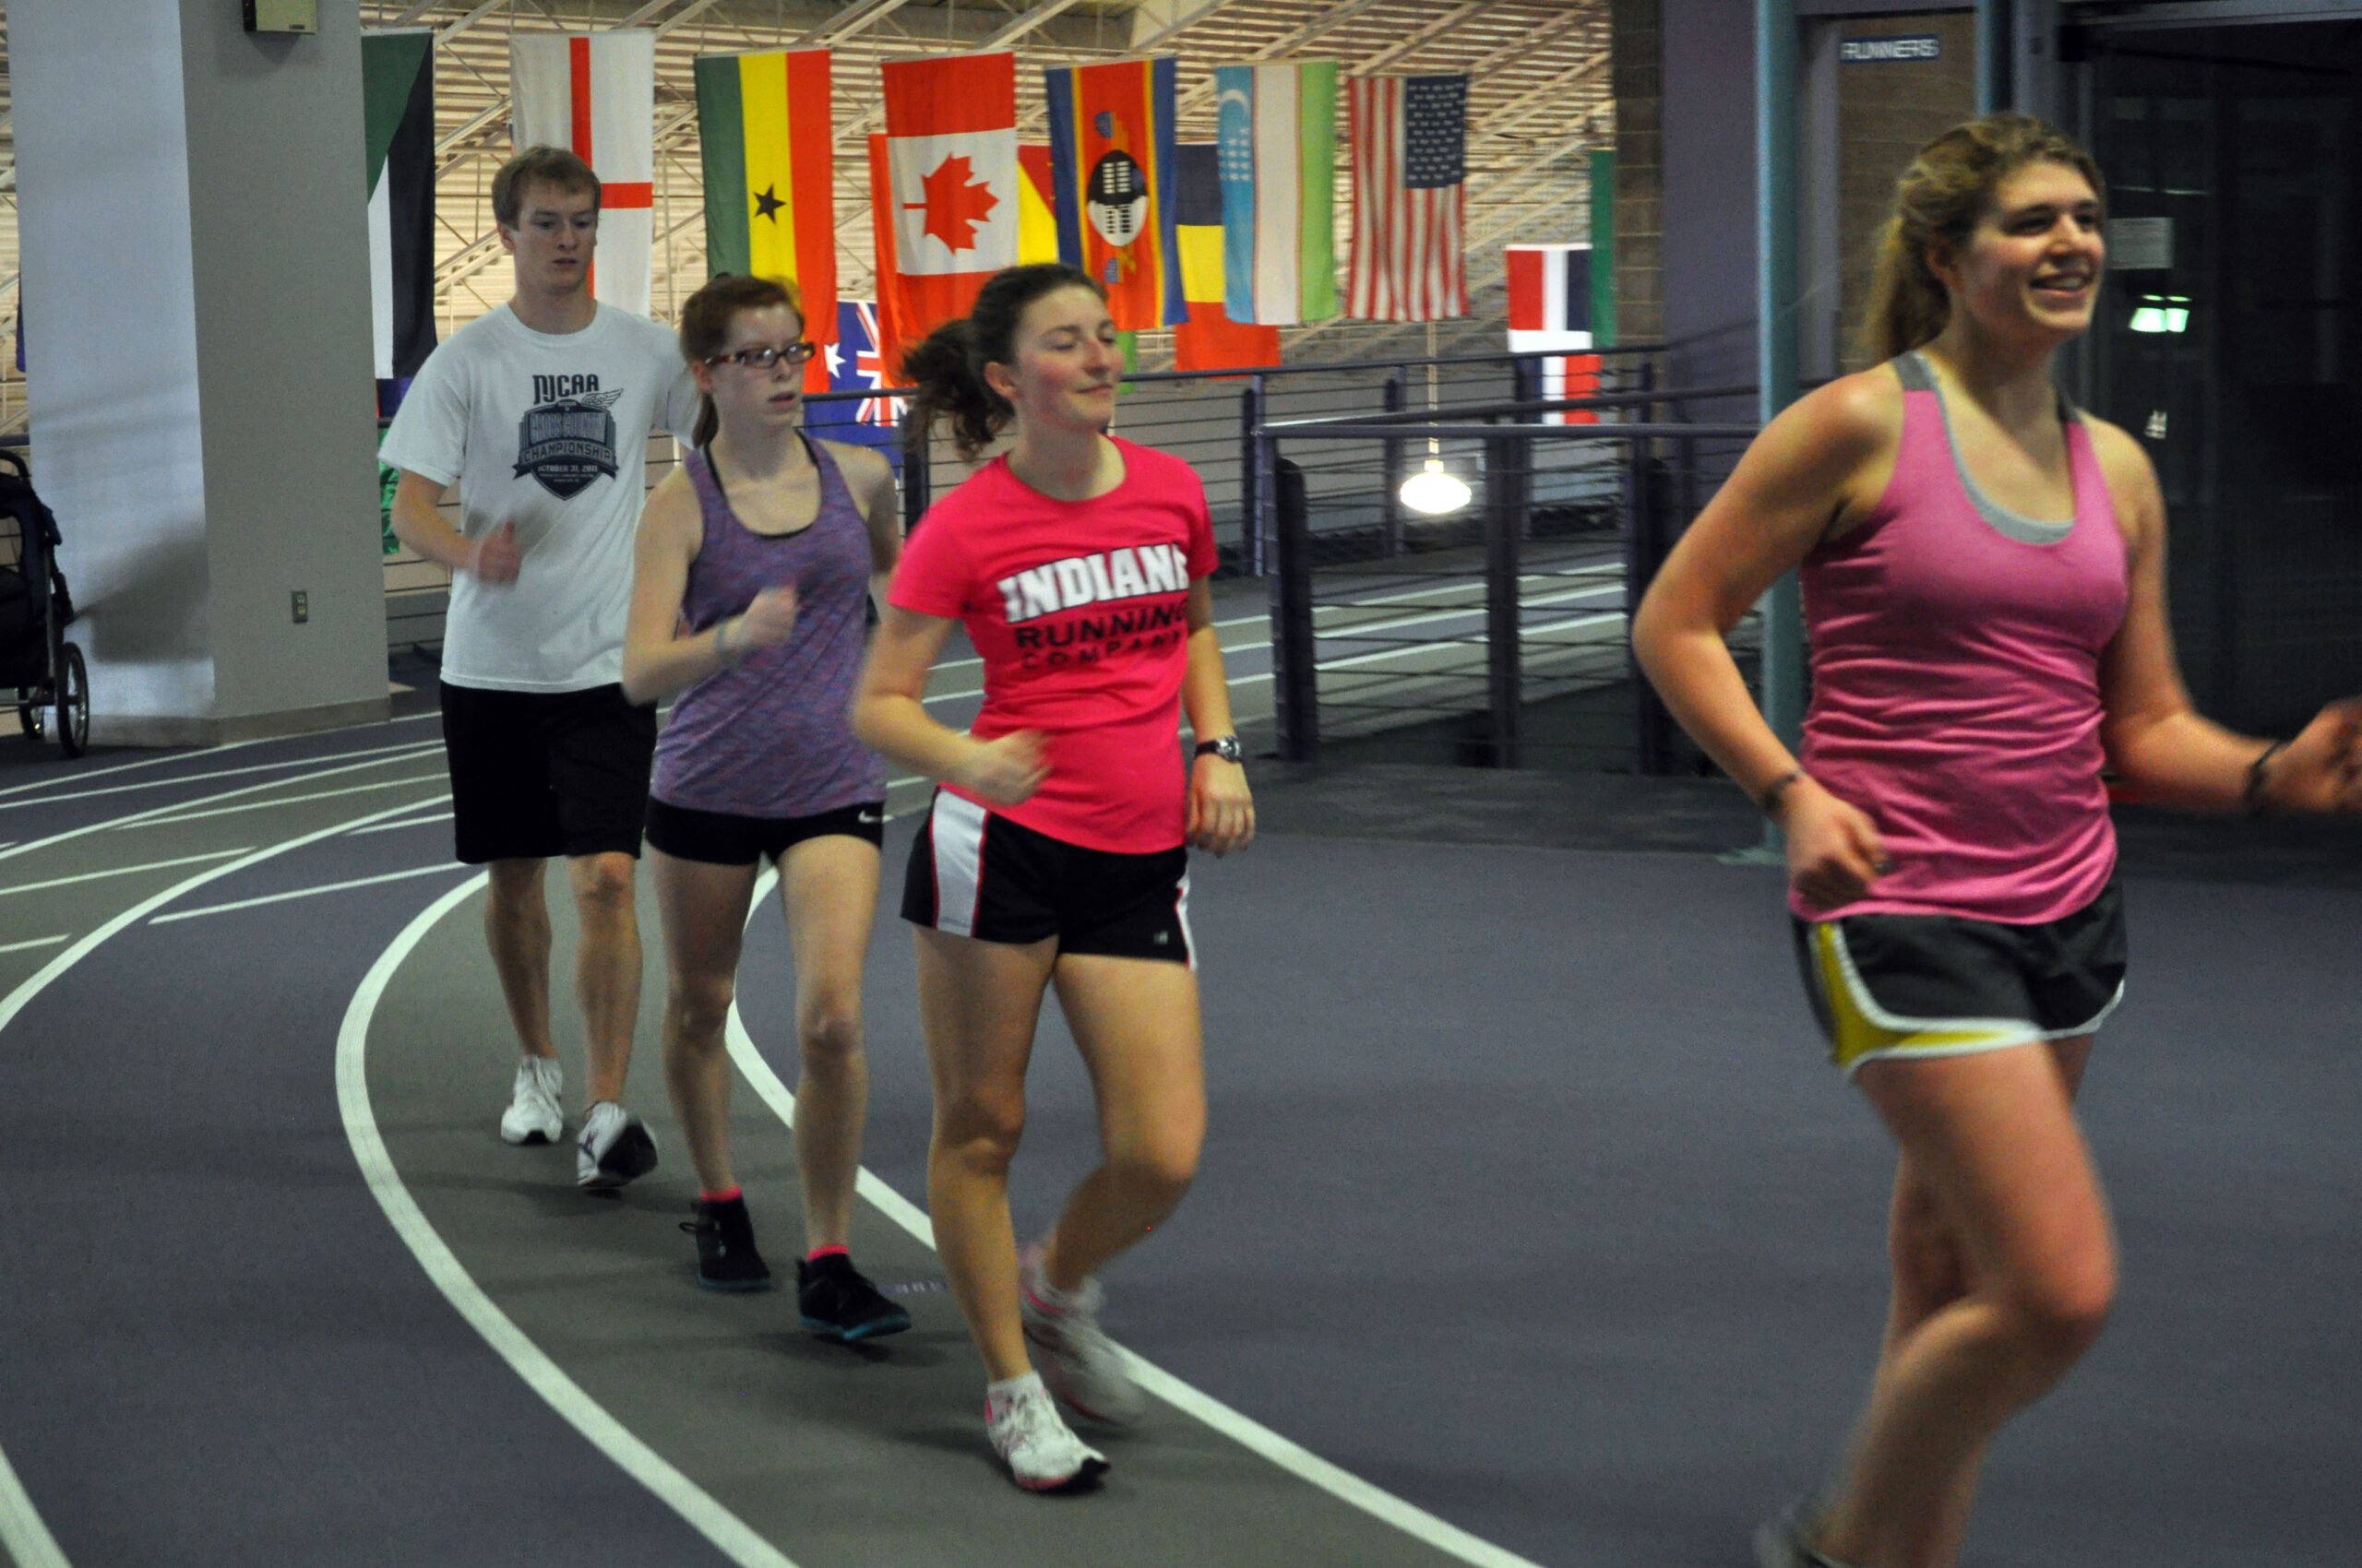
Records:
[[[746,909],[749,923],[763,909],[763,900],[770,895],[770,888],[777,881],[779,874],[770,869],[765,869],[763,876],[756,878],[753,897],[749,900]],[[763,1053],[753,1048],[753,1037],[746,1034],[746,1020],[739,1018],[735,999],[730,1001],[730,1020],[723,1037],[730,1041],[730,1060],[737,1065],[739,1074],[744,1074],[744,1079],[753,1086],[753,1091],[763,1098],[763,1103],[770,1105],[772,1115],[779,1117],[779,1122],[789,1131],[794,1131],[796,1096],[789,1091],[787,1084],[779,1082],[779,1074],[770,1070],[770,1063],[763,1060]],[[931,1249],[935,1247],[935,1226],[928,1223],[926,1211],[919,1209],[919,1204],[902,1197],[900,1193],[895,1193],[883,1181],[879,1181],[869,1171],[869,1167],[860,1169],[857,1190],[862,1197],[872,1202],[872,1207],[879,1209],[879,1214],[902,1226],[902,1230],[926,1242]],[[1370,1485],[1368,1481],[1346,1471],[1344,1466],[1330,1464],[1327,1459],[1311,1452],[1301,1443],[1283,1438],[1280,1433],[1271,1431],[1254,1417],[1231,1410],[1212,1393],[1193,1389],[1172,1372],[1157,1367],[1150,1360],[1143,1360],[1134,1351],[1124,1351],[1122,1346],[1117,1346],[1117,1351],[1122,1351],[1124,1355],[1124,1367],[1131,1372],[1131,1381],[1136,1381],[1148,1393],[1155,1393],[1167,1405],[1181,1410],[1183,1415],[1195,1417],[1198,1422],[1205,1422],[1221,1436],[1231,1438],[1233,1443],[1254,1455],[1261,1455],[1264,1459],[1280,1466],[1290,1476],[1309,1481],[1330,1497],[1337,1497],[1339,1502],[1346,1502],[1361,1509],[1363,1514],[1370,1514],[1372,1518],[1394,1525],[1403,1535],[1422,1540],[1436,1551],[1457,1556],[1462,1563],[1474,1563],[1476,1568],[1540,1568],[1540,1563],[1533,1563],[1531,1559],[1523,1559],[1505,1547],[1495,1547],[1493,1542],[1479,1535],[1469,1535],[1460,1525],[1436,1518],[1415,1502],[1405,1502],[1384,1488]]]

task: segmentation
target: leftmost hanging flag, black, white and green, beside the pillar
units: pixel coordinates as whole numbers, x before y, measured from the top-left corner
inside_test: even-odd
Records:
[[[378,380],[435,352],[435,31],[361,33],[368,314]]]

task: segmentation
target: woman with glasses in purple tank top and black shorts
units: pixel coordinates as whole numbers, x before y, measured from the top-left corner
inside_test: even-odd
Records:
[[[900,553],[893,470],[862,446],[808,439],[803,302],[791,283],[720,276],[680,309],[680,349],[706,394],[694,451],[640,520],[624,690],[671,697],[647,805],[671,989],[664,1082],[697,1164],[697,1280],[768,1289],[730,1174],[723,1030],[758,862],[779,871],[796,954],[796,1169],[803,1178],[803,1327],[867,1339],[909,1315],[846,1247],[869,1072],[862,959],[879,895],[886,765],[846,718],[872,579]]]

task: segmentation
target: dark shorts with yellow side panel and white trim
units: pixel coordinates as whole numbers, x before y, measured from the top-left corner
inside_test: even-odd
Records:
[[[1793,921],[1805,994],[1847,1077],[1861,1063],[1970,1056],[2093,1034],[2123,997],[2123,890],[2003,926],[1953,914]]]

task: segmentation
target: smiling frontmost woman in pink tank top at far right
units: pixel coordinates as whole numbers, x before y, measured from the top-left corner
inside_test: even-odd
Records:
[[[1887,364],[1764,427],[1632,628],[1783,829],[1807,992],[1901,1145],[1871,1403],[1828,1492],[1757,1533],[1764,1568],[1953,1563],[1994,1433],[2107,1318],[2116,1252],[2074,1117],[2123,980],[2102,765],[2190,810],[2362,805],[2362,708],[2275,744],[2192,711],[2157,475],[2053,387],[2097,298],[2100,189],[2024,116],[1920,149],[1868,321]],[[1724,642],[1790,569],[1802,756]]]

